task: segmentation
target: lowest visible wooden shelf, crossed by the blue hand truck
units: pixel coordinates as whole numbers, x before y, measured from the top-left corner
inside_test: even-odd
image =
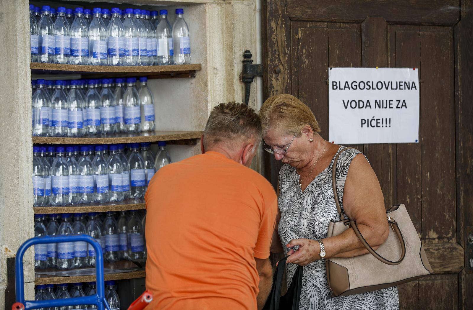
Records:
[[[105,268],[111,269],[123,269],[129,268],[125,272],[121,273],[105,273],[105,281],[107,280],[125,280],[142,278],[146,276],[145,269],[137,267],[131,261],[123,260],[116,263],[104,263]],[[80,270],[80,269],[78,269]],[[41,271],[57,271],[55,269],[45,269]],[[42,284],[61,284],[61,283],[79,283],[79,282],[91,282],[95,281],[95,275],[92,276],[52,276],[35,274],[35,285]]]

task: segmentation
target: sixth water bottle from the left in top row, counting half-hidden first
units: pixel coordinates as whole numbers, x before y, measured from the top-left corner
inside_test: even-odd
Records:
[[[112,19],[107,27],[109,66],[125,65],[125,31],[119,12],[119,8],[112,8]]]

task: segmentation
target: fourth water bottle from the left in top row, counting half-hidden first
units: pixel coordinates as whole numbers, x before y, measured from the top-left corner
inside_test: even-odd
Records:
[[[76,17],[70,27],[70,64],[87,65],[89,60],[88,23],[83,9],[76,8]]]

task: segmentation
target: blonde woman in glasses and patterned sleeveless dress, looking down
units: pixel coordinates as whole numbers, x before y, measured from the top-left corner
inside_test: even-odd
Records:
[[[304,266],[299,309],[399,309],[395,286],[330,297],[324,259],[368,252],[351,228],[327,238],[329,222],[340,219],[333,198],[332,165],[345,147],[325,141],[318,134],[321,129],[312,111],[292,95],[269,98],[259,114],[263,148],[284,164],[279,172],[279,212],[272,251],[279,249],[289,255],[288,285],[295,264]],[[383,193],[368,160],[356,150],[343,152],[336,177],[343,211],[357,222],[371,246],[379,246],[389,230]]]

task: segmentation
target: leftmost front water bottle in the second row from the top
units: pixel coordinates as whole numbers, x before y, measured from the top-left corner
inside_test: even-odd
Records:
[[[36,91],[31,101],[31,114],[33,117],[33,135],[46,137],[49,135],[51,125],[51,97],[46,90],[46,81],[37,80]]]

